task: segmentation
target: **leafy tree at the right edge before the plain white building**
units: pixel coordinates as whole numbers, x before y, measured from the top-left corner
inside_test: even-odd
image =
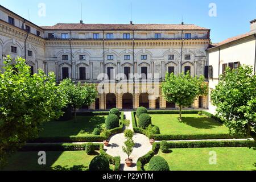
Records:
[[[217,116],[224,121],[232,134],[252,135],[256,127],[256,76],[253,68],[243,65],[227,68],[225,75],[212,91],[212,104]],[[255,135],[254,135],[255,136]]]

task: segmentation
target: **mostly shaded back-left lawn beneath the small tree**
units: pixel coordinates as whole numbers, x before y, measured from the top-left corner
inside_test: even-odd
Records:
[[[40,137],[83,137],[93,135],[96,127],[105,127],[106,116],[78,116],[69,121],[50,121],[43,123]]]

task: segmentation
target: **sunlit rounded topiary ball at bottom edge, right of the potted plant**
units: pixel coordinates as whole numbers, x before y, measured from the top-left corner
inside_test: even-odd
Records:
[[[148,164],[150,171],[170,171],[169,165],[161,156],[154,156]]]

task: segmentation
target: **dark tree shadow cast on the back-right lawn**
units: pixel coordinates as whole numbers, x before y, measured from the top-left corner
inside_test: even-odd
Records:
[[[214,121],[212,118],[184,117],[182,122],[197,129],[214,129],[217,126],[222,126],[221,123]]]

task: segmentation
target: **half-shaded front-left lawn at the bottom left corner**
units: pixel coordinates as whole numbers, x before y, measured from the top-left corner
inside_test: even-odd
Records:
[[[49,151],[46,152],[46,165],[38,164],[38,152],[16,152],[9,158],[4,168],[8,171],[87,171],[90,161],[96,156],[87,155],[85,151]]]

